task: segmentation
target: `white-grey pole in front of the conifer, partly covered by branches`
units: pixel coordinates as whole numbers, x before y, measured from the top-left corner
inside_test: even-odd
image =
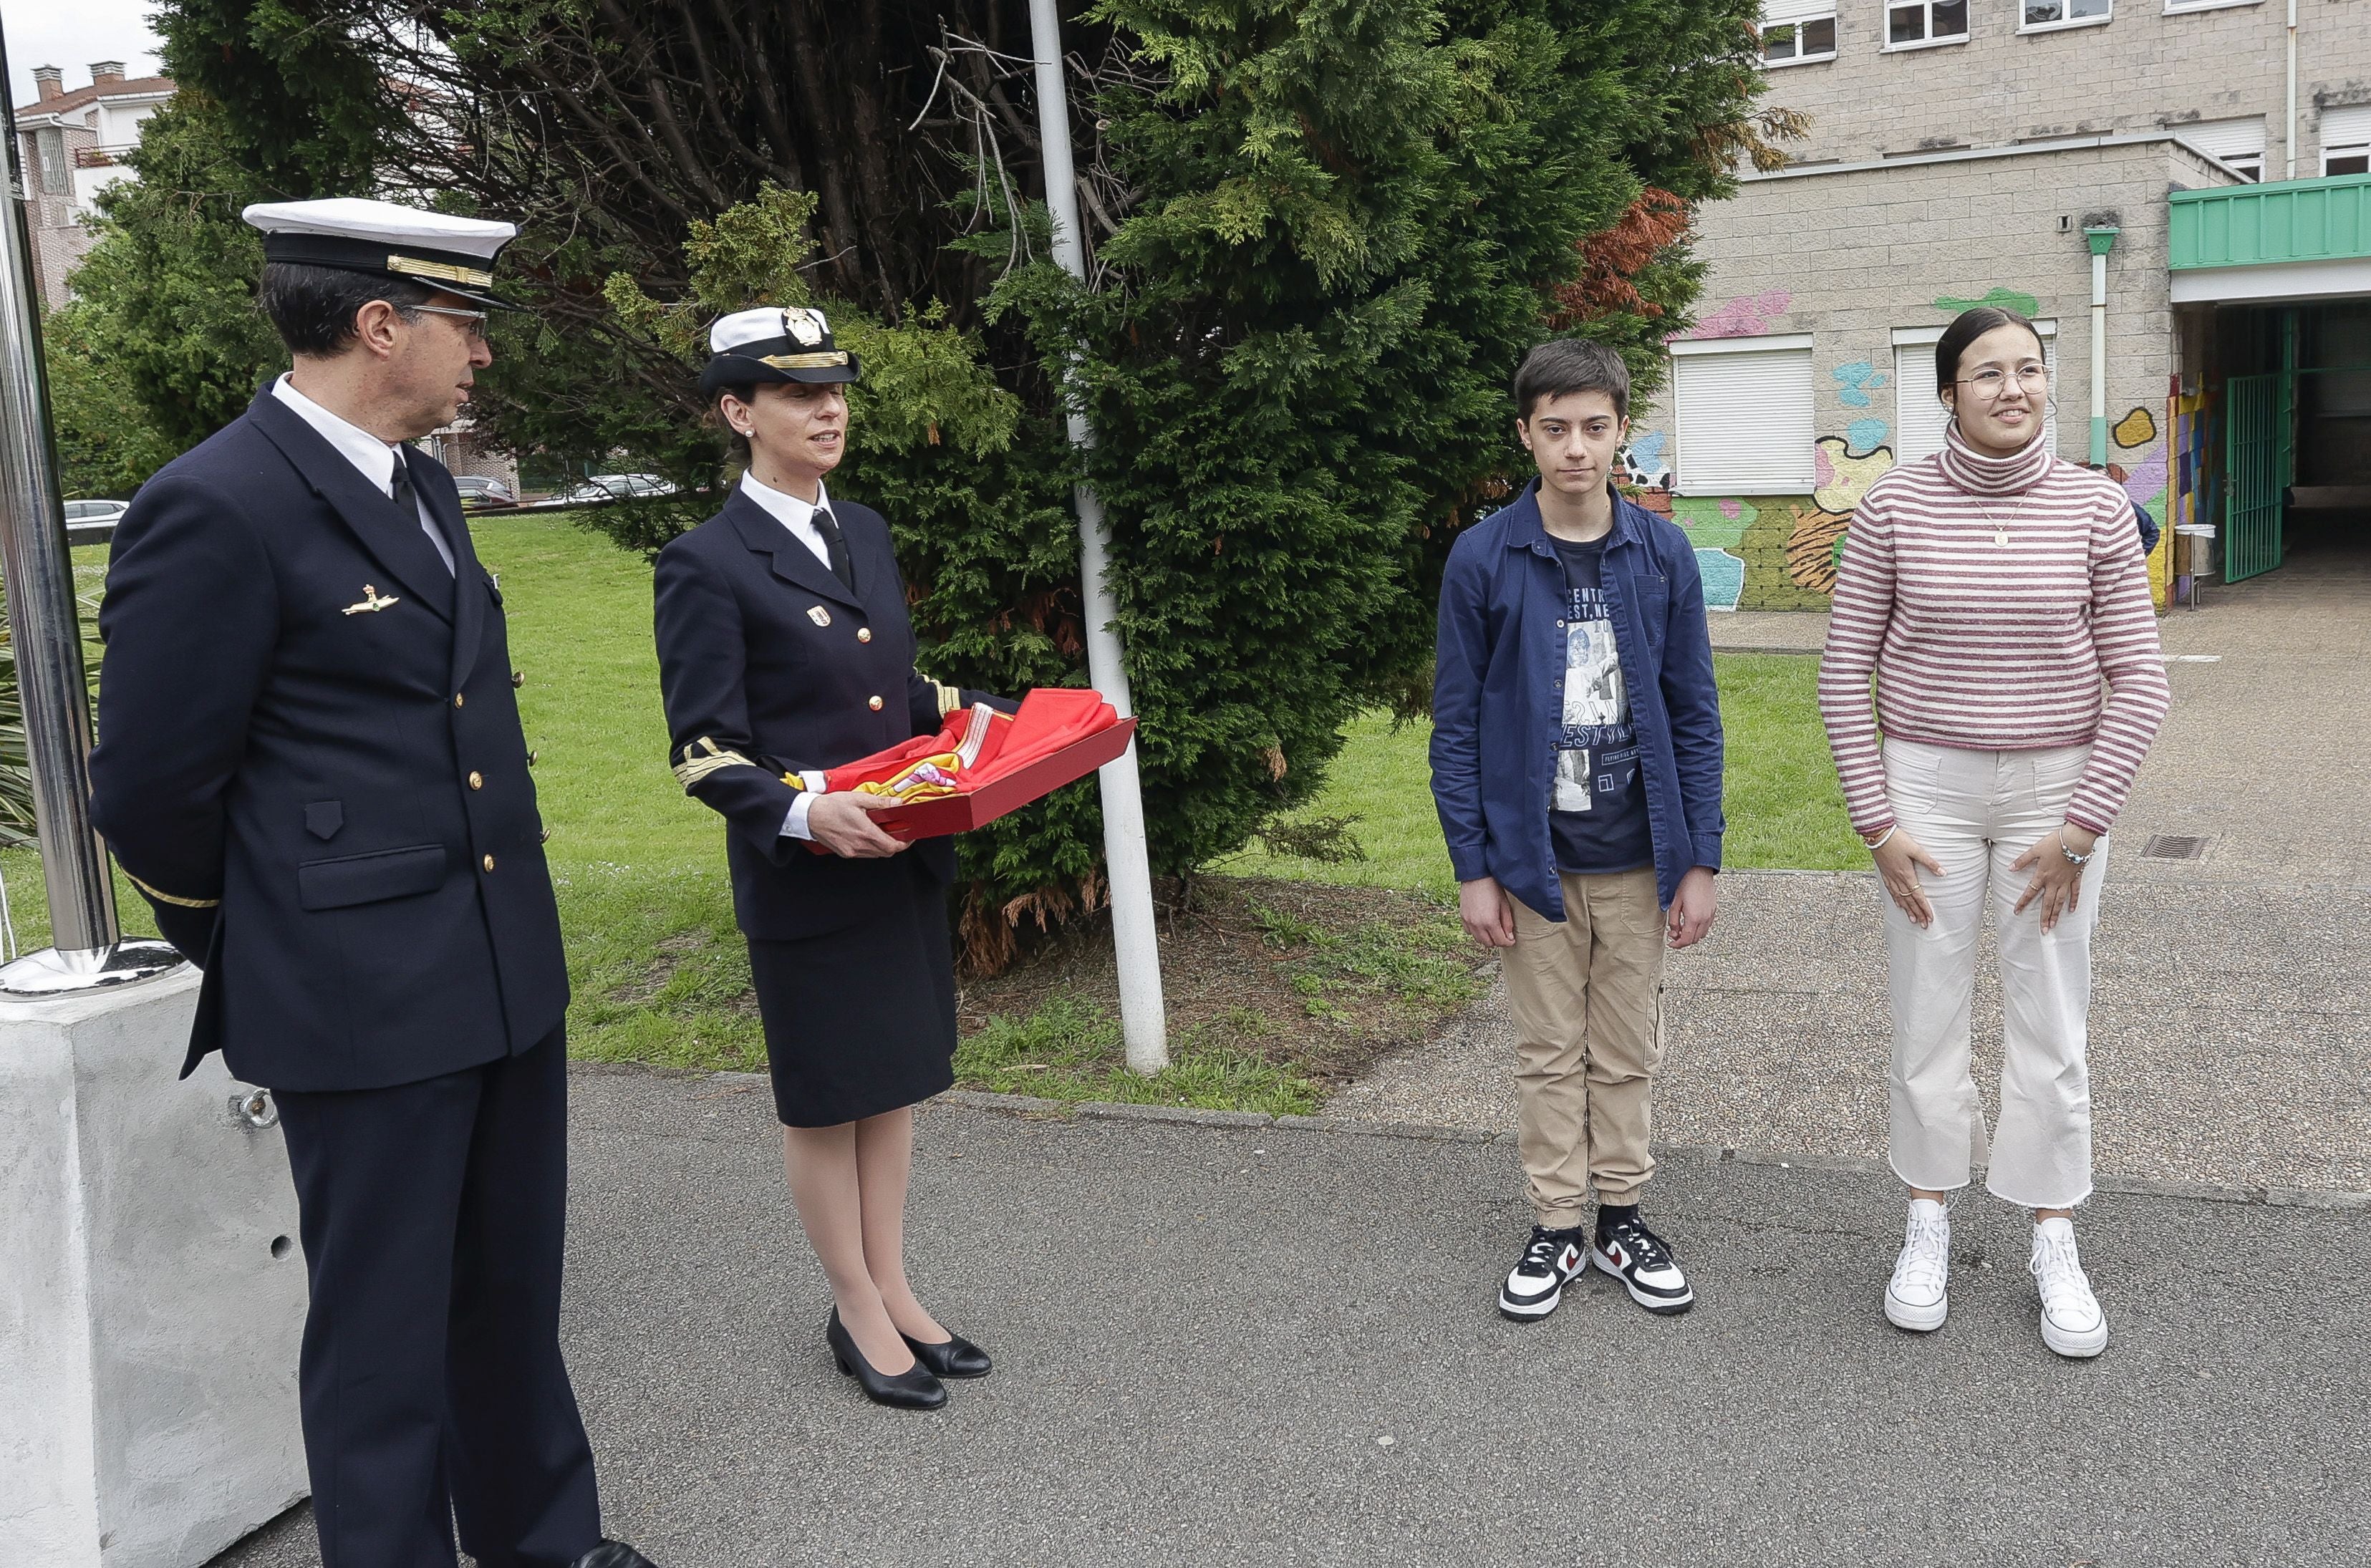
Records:
[[[1055,0],[1029,0],[1029,40],[1036,55],[1038,138],[1046,142],[1046,206],[1053,213],[1053,256],[1086,280],[1086,242],[1079,228],[1079,176],[1069,159],[1069,90],[1062,83],[1062,19]],[[1020,223],[1020,213],[1012,218]],[[1069,413],[1072,446],[1093,446],[1095,432],[1081,410]],[[1119,614],[1112,603],[1112,531],[1103,503],[1086,484],[1079,503],[1079,576],[1086,593],[1086,674],[1121,716],[1129,671],[1121,662]],[[1103,764],[1103,861],[1112,878],[1112,946],[1119,956],[1119,1027],[1129,1041],[1129,1067],[1159,1072],[1169,1065],[1169,1020],[1162,1008],[1162,951],[1152,932],[1152,863],[1145,856],[1145,799],[1136,778],[1136,742],[1117,761]]]

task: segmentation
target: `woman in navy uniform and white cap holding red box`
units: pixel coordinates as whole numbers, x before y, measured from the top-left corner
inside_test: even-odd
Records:
[[[823,769],[993,697],[915,674],[889,524],[823,489],[858,375],[823,313],[737,311],[709,346],[699,389],[742,477],[659,553],[669,759],[728,823],[782,1169],[832,1281],[825,1338],[865,1395],[932,1409],[939,1378],[989,1371],[906,1283],[913,1105],[953,1084],[956,854],[944,837],[889,837],[870,818],[887,802],[825,792]]]

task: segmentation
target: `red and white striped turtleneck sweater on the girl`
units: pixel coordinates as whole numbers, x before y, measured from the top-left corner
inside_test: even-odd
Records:
[[[2172,705],[2132,501],[2041,439],[2008,458],[1944,441],[1871,484],[1845,538],[1819,714],[1852,826],[1894,821],[1883,728],[1980,752],[2089,742],[2068,821],[2105,833]]]

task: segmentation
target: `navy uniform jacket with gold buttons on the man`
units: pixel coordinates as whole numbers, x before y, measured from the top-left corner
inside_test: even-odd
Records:
[[[185,1075],[384,1089],[567,1013],[503,595],[410,467],[455,572],[270,389],[116,529],[92,814],[206,970]]]

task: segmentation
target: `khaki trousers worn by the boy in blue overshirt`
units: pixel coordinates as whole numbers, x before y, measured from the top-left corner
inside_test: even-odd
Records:
[[[1539,1224],[1581,1224],[1598,1203],[1636,1203],[1655,1172],[1662,1067],[1662,904],[1655,868],[1565,875],[1558,925],[1515,906],[1501,951],[1515,1013],[1515,1146]]]

